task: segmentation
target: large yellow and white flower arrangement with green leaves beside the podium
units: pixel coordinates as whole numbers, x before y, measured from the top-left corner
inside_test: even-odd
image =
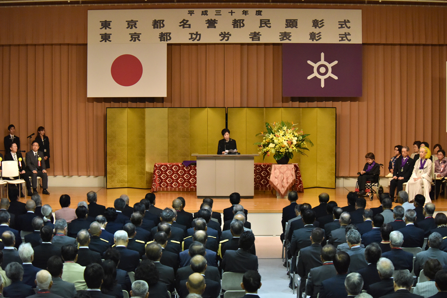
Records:
[[[297,131],[298,124],[281,121],[281,123],[273,122],[269,124],[266,122],[267,132],[263,131],[256,135],[263,137],[261,143],[254,143],[258,145],[259,154],[263,154],[263,159],[266,155],[273,154],[275,160],[286,156],[293,158],[294,152],[306,155],[304,150],[309,151],[307,145],[313,146],[313,143],[308,138],[309,134],[304,134],[303,131]]]

